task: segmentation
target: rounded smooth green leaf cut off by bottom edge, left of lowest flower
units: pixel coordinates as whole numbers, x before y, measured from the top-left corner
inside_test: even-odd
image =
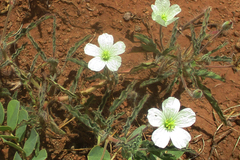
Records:
[[[91,151],[88,153],[88,160],[98,160],[101,159],[103,154],[103,148],[100,146],[95,146],[91,149]],[[103,160],[110,160],[110,154],[107,150],[105,150],[105,154],[103,157]]]

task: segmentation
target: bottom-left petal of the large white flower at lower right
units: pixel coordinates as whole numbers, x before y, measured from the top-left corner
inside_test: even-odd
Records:
[[[165,148],[168,145],[169,140],[169,132],[162,127],[156,129],[152,134],[153,143],[160,148]]]

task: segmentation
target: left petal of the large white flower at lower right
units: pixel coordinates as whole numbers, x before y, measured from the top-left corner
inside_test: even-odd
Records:
[[[162,111],[157,108],[151,108],[148,110],[147,119],[153,127],[160,127],[163,126],[165,118]]]

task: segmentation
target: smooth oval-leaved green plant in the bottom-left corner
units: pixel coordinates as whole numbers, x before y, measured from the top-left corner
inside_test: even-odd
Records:
[[[40,150],[40,137],[34,127],[29,128],[30,118],[28,112],[20,106],[17,100],[11,100],[7,105],[7,122],[4,121],[5,110],[0,103],[0,138],[3,143],[15,148],[17,152],[14,160],[44,160],[47,151]],[[33,152],[34,151],[34,152]]]

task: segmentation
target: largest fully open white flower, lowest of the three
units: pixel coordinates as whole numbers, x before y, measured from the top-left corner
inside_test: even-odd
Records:
[[[152,134],[152,141],[160,148],[165,148],[169,142],[181,149],[191,140],[190,134],[182,128],[189,127],[196,121],[196,115],[190,108],[179,112],[180,102],[169,97],[162,103],[162,110],[151,108],[148,110],[148,121],[153,127],[158,127]]]

